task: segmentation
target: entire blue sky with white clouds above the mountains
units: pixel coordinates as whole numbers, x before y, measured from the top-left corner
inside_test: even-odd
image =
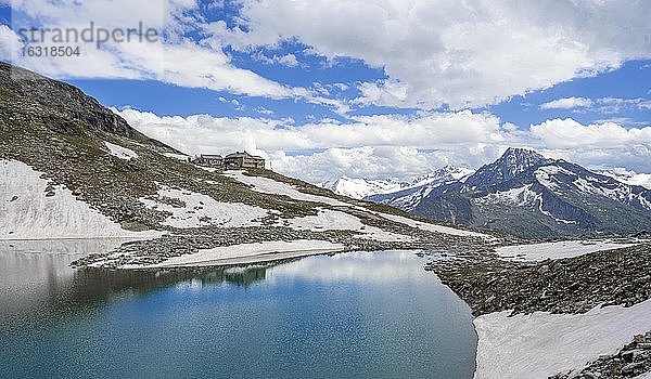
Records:
[[[245,148],[312,182],[478,167],[507,146],[651,172],[649,14],[646,0],[0,0],[0,57],[186,153]],[[159,38],[22,54],[22,28],[91,22]]]

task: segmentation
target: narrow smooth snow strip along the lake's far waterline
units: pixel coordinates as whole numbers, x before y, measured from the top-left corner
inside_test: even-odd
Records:
[[[343,251],[344,246],[326,240],[297,239],[292,241],[273,240],[259,244],[242,244],[200,250],[193,254],[170,258],[152,265],[125,265],[123,269],[206,266],[217,264],[247,264],[279,259]]]

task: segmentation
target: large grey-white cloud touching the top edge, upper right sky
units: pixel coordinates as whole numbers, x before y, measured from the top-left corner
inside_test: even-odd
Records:
[[[297,38],[388,79],[360,103],[452,108],[496,103],[651,57],[646,1],[243,0],[245,28],[208,30],[246,50]],[[244,31],[246,30],[246,31]]]

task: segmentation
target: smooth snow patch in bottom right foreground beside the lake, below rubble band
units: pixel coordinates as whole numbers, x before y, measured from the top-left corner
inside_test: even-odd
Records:
[[[580,370],[599,355],[614,354],[633,336],[651,330],[651,300],[630,308],[595,308],[586,314],[511,311],[475,318],[475,379],[523,379]]]

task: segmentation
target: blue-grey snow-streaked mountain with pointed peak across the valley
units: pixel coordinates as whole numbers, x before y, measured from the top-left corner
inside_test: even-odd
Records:
[[[630,234],[651,230],[651,191],[628,171],[582,166],[509,148],[476,172],[443,168],[431,181],[365,199],[438,221],[521,237]],[[335,190],[336,191],[336,190]]]

